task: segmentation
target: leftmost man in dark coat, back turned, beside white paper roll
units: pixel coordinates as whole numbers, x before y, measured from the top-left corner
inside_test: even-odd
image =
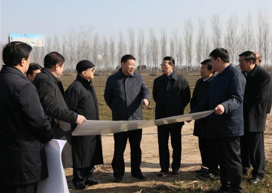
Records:
[[[37,89],[24,75],[30,45],[12,41],[3,48],[0,71],[0,193],[36,193],[48,177],[43,143],[54,137]]]

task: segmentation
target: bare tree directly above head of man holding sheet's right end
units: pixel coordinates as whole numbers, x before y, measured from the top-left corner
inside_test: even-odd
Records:
[[[220,25],[220,18],[219,14],[215,14],[211,19],[211,26],[212,26],[212,44],[213,49],[221,47],[221,25]]]

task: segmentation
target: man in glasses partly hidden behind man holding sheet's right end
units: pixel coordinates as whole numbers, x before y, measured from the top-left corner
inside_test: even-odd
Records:
[[[191,111],[206,96],[214,79],[214,71],[211,60],[202,61],[200,68],[201,78],[196,81],[192,98],[190,100]],[[208,110],[208,109],[207,109]],[[198,146],[201,155],[202,165],[196,173],[200,177],[209,178],[218,174],[218,159],[216,156],[215,139],[209,137],[209,117],[200,118],[194,121],[193,135],[198,137]],[[207,169],[208,168],[208,169]]]

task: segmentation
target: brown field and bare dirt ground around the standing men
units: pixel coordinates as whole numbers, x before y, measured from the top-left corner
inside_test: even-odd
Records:
[[[73,76],[63,76],[61,80],[66,89],[75,79]],[[157,76],[145,76],[143,79],[152,92],[153,80]],[[199,73],[189,73],[184,75],[189,81],[191,92]],[[101,120],[111,120],[111,111],[105,104],[103,93],[107,76],[95,76],[93,83],[99,103],[99,116]],[[151,95],[152,96],[152,95]],[[155,103],[151,98],[150,105],[143,109],[143,119],[152,120],[155,114]],[[189,106],[185,113],[189,112]],[[272,193],[272,116],[267,117],[267,129],[265,132],[265,150],[266,150],[266,176],[259,185],[251,186],[247,180],[251,177],[244,177],[243,189],[245,193]],[[130,148],[129,143],[124,154],[126,162],[126,172],[121,183],[112,183],[113,179],[111,160],[113,157],[113,135],[102,136],[104,165],[95,167],[95,179],[100,184],[87,187],[86,190],[76,190],[72,184],[72,169],[65,169],[66,179],[70,193],[207,193],[213,189],[219,189],[219,177],[211,180],[202,181],[193,171],[198,169],[201,164],[200,153],[198,149],[198,139],[192,135],[193,121],[185,123],[182,127],[182,155],[181,155],[181,174],[177,176],[167,175],[157,177],[160,170],[157,131],[155,127],[143,129],[141,149],[142,164],[141,169],[146,180],[138,180],[130,173]],[[169,144],[171,150],[171,144]]]

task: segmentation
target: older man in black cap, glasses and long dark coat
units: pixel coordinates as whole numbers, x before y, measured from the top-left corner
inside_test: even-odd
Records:
[[[94,64],[82,60],[76,66],[76,80],[67,88],[65,94],[69,110],[83,115],[87,120],[99,120],[98,103],[93,88]],[[77,124],[72,124],[72,131]],[[100,135],[72,136],[73,184],[77,189],[86,185],[99,184],[94,180],[94,165],[103,164]]]

